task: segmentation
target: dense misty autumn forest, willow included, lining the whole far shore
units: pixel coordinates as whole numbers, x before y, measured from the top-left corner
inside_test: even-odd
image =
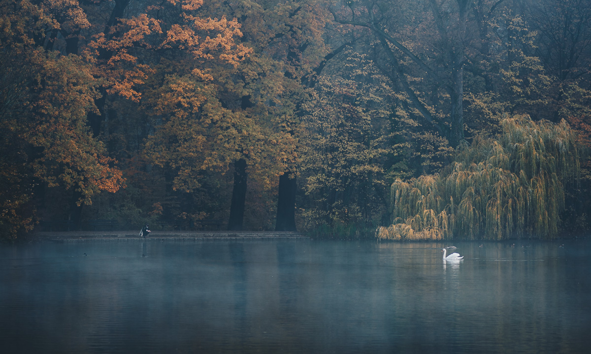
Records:
[[[0,0],[0,235],[590,227],[587,0]]]

